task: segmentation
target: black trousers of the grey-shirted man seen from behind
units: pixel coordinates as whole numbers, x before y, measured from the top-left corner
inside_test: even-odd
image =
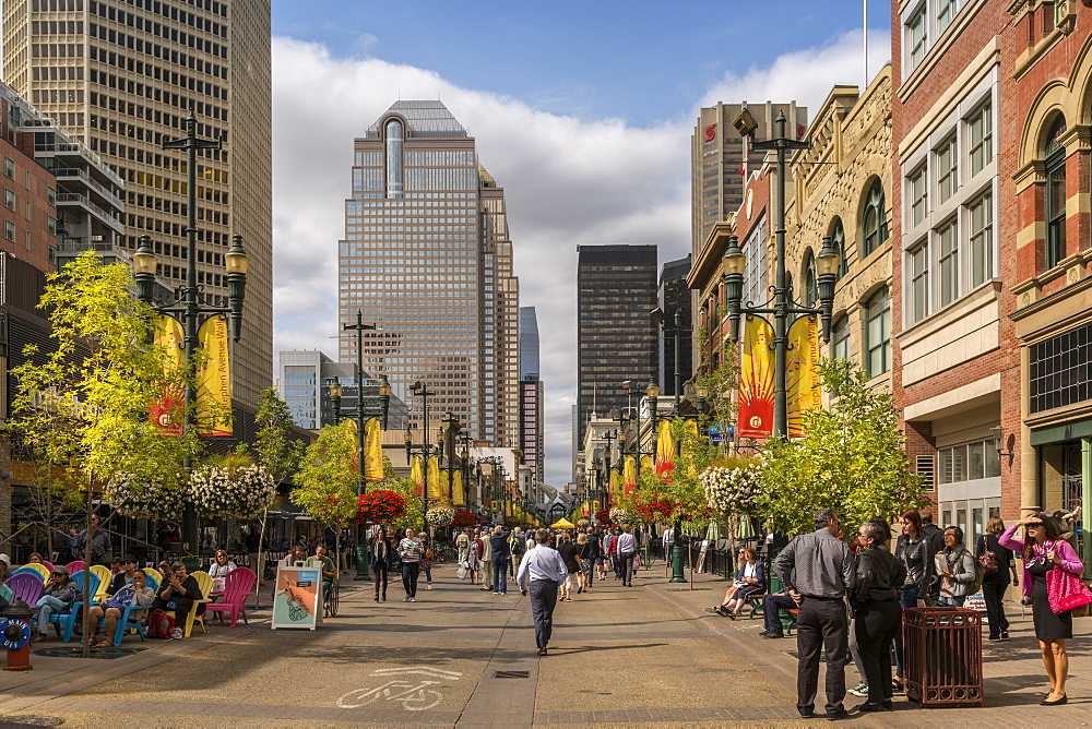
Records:
[[[819,656],[827,652],[827,714],[842,710],[845,664],[850,659],[850,619],[841,599],[805,597],[796,616],[796,708],[815,709],[819,689]]]

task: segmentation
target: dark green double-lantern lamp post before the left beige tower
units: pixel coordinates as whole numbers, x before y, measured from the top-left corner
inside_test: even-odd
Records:
[[[197,389],[194,373],[197,362],[194,354],[198,348],[198,331],[201,322],[211,316],[232,315],[232,338],[238,342],[242,334],[242,302],[246,296],[247,270],[249,260],[242,249],[242,236],[232,236],[232,247],[224,254],[224,266],[227,270],[228,306],[212,306],[201,292],[198,285],[198,251],[197,251],[197,152],[198,150],[219,150],[221,140],[199,140],[197,136],[197,118],[193,111],[186,117],[186,136],[163,143],[164,150],[182,150],[186,152],[186,284],[175,291],[175,298],[166,306],[157,306],[154,300],[155,287],[155,251],[149,236],[140,237],[140,246],[133,254],[133,272],[138,286],[138,298],[152,304],[163,314],[171,314],[182,321],[182,346],[185,350],[186,391],[182,432],[189,433],[197,427]],[[182,459],[182,470],[189,473],[192,459]],[[192,503],[187,503],[182,510],[182,549],[195,552],[198,548],[198,516]],[[191,553],[192,553],[191,552]]]

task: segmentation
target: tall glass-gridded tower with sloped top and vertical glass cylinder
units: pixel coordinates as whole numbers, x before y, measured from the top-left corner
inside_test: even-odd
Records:
[[[387,374],[422,427],[450,410],[495,446],[519,442],[519,279],[505,191],[440,101],[397,101],[354,142],[339,247],[339,322],[376,324],[364,369]],[[340,359],[356,361],[356,337]],[[432,438],[435,442],[435,438]]]

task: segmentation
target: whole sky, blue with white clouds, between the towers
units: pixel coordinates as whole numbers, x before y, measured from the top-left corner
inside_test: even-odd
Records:
[[[870,81],[890,57],[890,3],[867,1]],[[565,486],[577,247],[685,256],[701,107],[814,112],[833,85],[865,82],[860,0],[731,4],[274,0],[274,350],[336,357],[353,140],[400,98],[439,98],[506,191],[520,306],[538,315],[546,481]]]

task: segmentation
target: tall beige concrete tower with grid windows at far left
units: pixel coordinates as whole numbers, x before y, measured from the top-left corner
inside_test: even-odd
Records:
[[[161,145],[185,136],[191,109],[199,136],[224,141],[198,157],[198,283],[227,303],[224,253],[240,234],[250,273],[232,394],[257,406],[273,383],[269,1],[0,0],[0,9],[4,81],[124,181],[118,242],[133,251],[151,236],[175,285],[187,265],[186,154]]]

